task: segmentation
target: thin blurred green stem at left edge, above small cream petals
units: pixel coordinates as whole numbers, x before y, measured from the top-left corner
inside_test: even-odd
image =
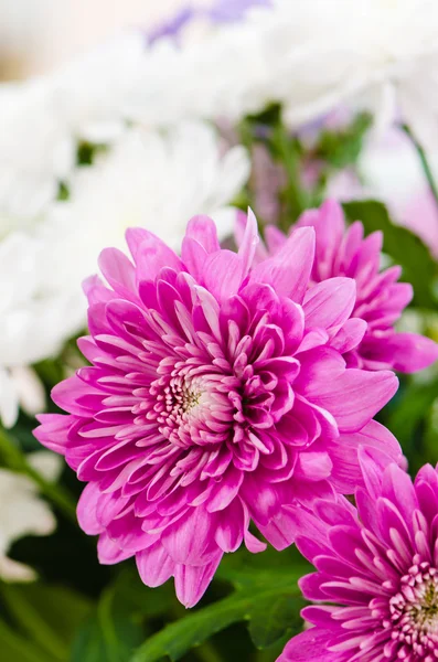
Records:
[[[77,523],[76,503],[61,485],[51,483],[31,467],[25,455],[20,450],[14,438],[0,428],[0,457],[4,466],[12,471],[28,476],[39,488],[42,494],[66,516]]]

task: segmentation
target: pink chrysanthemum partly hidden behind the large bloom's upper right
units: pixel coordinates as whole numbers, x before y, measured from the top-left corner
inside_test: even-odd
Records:
[[[242,236],[242,217],[237,224],[237,241]],[[366,332],[362,342],[345,353],[351,366],[366,370],[393,369],[413,373],[427,367],[438,359],[438,345],[417,333],[397,333],[394,323],[413,298],[408,282],[397,282],[398,266],[380,270],[382,233],[364,238],[361,222],[348,229],[342,207],[328,200],[319,210],[305,212],[295,227],[314,227],[316,258],[312,284],[327,278],[346,276],[356,282],[356,302],[352,314],[365,320]],[[265,229],[266,247],[260,245],[257,259],[261,261],[276,254],[287,242],[275,226]]]

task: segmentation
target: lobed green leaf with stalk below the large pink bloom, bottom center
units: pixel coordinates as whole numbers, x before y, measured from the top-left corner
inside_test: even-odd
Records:
[[[224,559],[217,576],[231,580],[236,590],[165,627],[147,640],[130,662],[158,662],[165,656],[175,662],[190,649],[239,621],[249,622],[249,633],[259,648],[269,647],[287,632],[301,629],[299,612],[305,601],[297,580],[309,566],[302,559],[291,565],[296,556],[289,549],[273,555],[266,552],[258,558],[242,551],[233,557]],[[264,564],[273,557],[277,564],[266,567]]]

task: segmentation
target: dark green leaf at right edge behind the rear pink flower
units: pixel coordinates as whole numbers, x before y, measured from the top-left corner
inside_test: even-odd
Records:
[[[386,207],[377,201],[348,202],[343,205],[351,221],[362,221],[365,233],[383,232],[383,250],[395,264],[403,267],[403,280],[414,287],[414,302],[425,308],[435,308],[431,286],[437,274],[437,265],[428,248],[417,235],[391,222]]]

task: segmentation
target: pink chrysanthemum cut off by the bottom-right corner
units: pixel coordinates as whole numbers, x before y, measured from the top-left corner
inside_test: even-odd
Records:
[[[313,627],[278,662],[438,660],[438,471],[425,466],[413,484],[375,450],[360,459],[357,510],[341,496],[295,512],[297,545],[318,570],[300,587],[329,605],[303,609]]]

